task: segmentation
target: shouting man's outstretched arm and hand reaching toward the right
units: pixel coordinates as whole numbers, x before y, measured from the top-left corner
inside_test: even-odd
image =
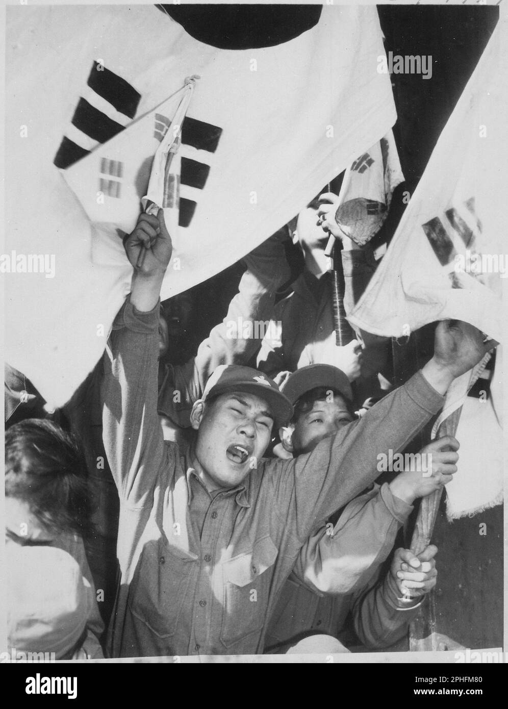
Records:
[[[359,421],[295,461],[268,464],[278,513],[293,520],[301,542],[317,525],[373,483],[380,454],[403,450],[444,403],[453,379],[468,372],[497,343],[482,341],[468,323],[441,321],[434,357],[403,386],[385,396]]]

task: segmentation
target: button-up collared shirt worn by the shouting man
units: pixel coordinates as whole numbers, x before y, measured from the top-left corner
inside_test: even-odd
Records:
[[[105,357],[103,435],[120,495],[113,657],[263,652],[266,623],[317,525],[378,476],[443,397],[417,373],[295,460],[261,460],[210,495],[157,416],[158,306],[118,313]]]

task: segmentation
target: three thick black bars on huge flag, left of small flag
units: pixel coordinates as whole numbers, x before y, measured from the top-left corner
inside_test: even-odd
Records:
[[[98,143],[106,143],[124,130],[140,103],[141,94],[99,62],[94,62],[86,84],[53,160],[60,168],[81,160]]]

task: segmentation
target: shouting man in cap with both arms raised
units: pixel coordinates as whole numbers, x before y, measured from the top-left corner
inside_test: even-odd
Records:
[[[402,450],[492,342],[465,323],[439,323],[422,370],[294,460],[262,459],[273,425],[292,413],[276,384],[255,369],[219,368],[193,405],[196,442],[181,457],[157,417],[159,290],[171,258],[162,210],[140,216],[125,250],[132,291],[113,324],[102,385],[120,494],[109,652],[263,652],[278,593],[316,524],[373,482],[378,454]]]

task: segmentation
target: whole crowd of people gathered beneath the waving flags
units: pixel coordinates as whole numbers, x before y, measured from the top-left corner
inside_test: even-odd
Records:
[[[192,299],[159,299],[171,235],[162,210],[143,213],[124,239],[130,295],[67,405],[48,411],[6,366],[11,647],[57,659],[333,654],[407,635],[439,555],[412,553],[401,530],[451,480],[459,444],[424,447],[427,473],[380,476],[378,456],[405,450],[489,343],[441,321],[433,357],[398,387],[389,340],[359,331],[337,346],[329,236],[346,313],[378,262],[336,208],[322,194],[245,257],[192,357],[181,347]],[[246,337],[244,323],[269,327]]]

